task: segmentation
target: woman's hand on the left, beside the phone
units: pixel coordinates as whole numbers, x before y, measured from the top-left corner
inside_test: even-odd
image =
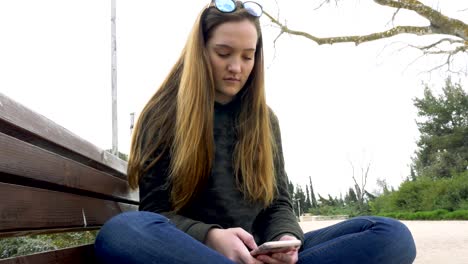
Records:
[[[212,228],[205,243],[236,263],[263,264],[250,255],[250,250],[257,248],[257,244],[253,236],[242,228]]]

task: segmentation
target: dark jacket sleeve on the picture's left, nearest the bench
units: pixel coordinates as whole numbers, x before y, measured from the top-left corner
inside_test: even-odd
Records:
[[[205,224],[177,214],[172,210],[170,202],[170,186],[168,183],[169,157],[164,155],[139,183],[140,211],[150,211],[167,217],[178,229],[204,243],[211,228],[221,228],[219,225]]]

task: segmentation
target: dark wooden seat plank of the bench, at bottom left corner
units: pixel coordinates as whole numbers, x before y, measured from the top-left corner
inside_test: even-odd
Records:
[[[83,245],[78,247],[42,252],[27,256],[7,258],[0,260],[0,264],[82,264],[96,263],[94,258],[94,245]]]

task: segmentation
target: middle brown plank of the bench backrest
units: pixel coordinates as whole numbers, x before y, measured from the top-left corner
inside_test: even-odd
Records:
[[[2,133],[0,149],[0,174],[12,175],[0,178],[0,182],[18,183],[19,180],[33,179],[138,203],[138,199],[130,194],[127,182],[120,178]],[[23,179],[15,179],[14,175]],[[37,185],[36,182],[34,184]],[[48,188],[53,189],[53,186]]]

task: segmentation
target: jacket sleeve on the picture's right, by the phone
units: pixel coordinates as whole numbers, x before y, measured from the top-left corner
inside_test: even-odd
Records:
[[[281,133],[276,116],[271,113],[271,126],[276,141],[275,177],[277,195],[273,203],[263,209],[254,222],[254,230],[258,241],[278,240],[282,235],[293,235],[304,242],[304,233],[293,212],[291,197],[288,192],[288,177],[284,169]]]

